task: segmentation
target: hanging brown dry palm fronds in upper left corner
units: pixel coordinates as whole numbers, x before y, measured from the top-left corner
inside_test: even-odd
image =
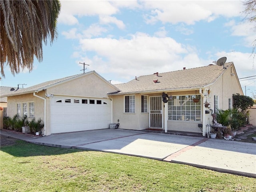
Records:
[[[59,0],[0,1],[1,75],[9,66],[13,75],[20,69],[33,69],[34,56],[42,61],[42,41],[57,37]]]

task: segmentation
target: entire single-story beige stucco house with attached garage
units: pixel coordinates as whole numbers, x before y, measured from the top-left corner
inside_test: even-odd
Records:
[[[109,128],[206,134],[217,109],[232,108],[243,94],[233,62],[152,73],[112,85],[95,71],[17,90],[8,116],[44,119],[44,134]],[[193,100],[198,99],[198,100]],[[209,104],[209,105],[208,105]]]

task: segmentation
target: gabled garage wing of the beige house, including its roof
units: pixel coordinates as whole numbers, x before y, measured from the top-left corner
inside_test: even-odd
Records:
[[[96,72],[78,74],[19,89],[9,94],[8,116],[41,118],[44,135],[109,128],[112,101],[120,91]],[[2,95],[1,95],[2,97]]]

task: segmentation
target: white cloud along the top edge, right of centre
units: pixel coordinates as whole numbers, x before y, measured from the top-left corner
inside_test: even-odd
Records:
[[[177,24],[179,22],[188,25],[200,20],[211,22],[218,16],[227,18],[241,16],[242,2],[240,1],[144,1],[144,8],[151,10],[151,14],[145,16],[147,23]]]

